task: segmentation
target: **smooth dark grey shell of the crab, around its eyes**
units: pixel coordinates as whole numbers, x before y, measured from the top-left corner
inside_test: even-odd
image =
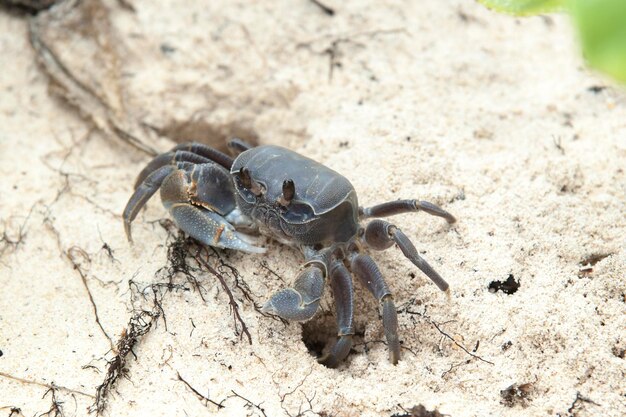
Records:
[[[243,186],[246,168],[264,189],[257,197]],[[347,178],[298,153],[279,146],[262,146],[241,153],[230,173],[237,205],[263,234],[300,245],[343,243],[359,229],[358,199]],[[287,207],[277,203],[283,182],[292,180],[295,197]]]

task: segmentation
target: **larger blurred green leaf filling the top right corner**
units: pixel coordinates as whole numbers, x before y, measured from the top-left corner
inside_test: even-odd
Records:
[[[569,0],[589,64],[626,82],[626,0]]]

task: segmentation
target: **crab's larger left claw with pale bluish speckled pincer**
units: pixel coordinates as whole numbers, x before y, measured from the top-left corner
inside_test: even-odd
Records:
[[[236,249],[249,253],[264,253],[252,245],[252,237],[239,233],[218,213],[189,202],[190,183],[182,170],[169,175],[161,185],[161,200],[172,214],[178,227],[194,239],[216,248]]]

